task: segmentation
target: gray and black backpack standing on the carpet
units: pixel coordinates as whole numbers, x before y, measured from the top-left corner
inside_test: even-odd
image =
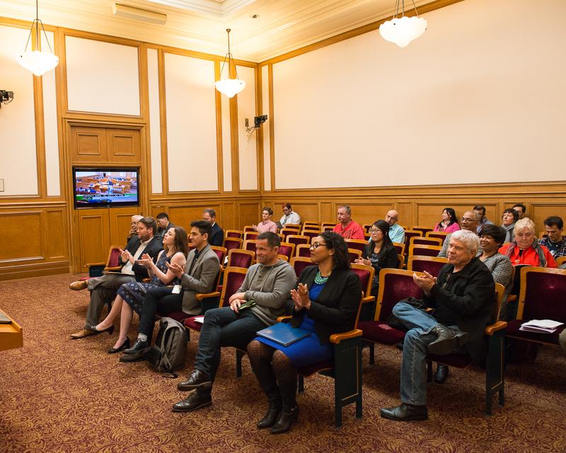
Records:
[[[177,377],[173,370],[185,365],[187,343],[187,331],[183,324],[172,318],[161,318],[155,345],[151,346],[147,361],[158,372],[168,372]]]

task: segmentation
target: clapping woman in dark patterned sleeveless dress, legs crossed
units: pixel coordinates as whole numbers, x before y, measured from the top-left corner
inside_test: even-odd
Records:
[[[120,336],[118,336],[115,345],[108,350],[108,354],[115,354],[115,352],[129,348],[127,333],[129,323],[132,321],[132,310],[139,314],[141,305],[144,303],[144,297],[149,289],[178,283],[178,279],[168,269],[167,263],[176,263],[184,267],[187,262],[188,251],[187,231],[182,226],[174,226],[168,229],[163,236],[163,251],[159,253],[157,263],[154,263],[146,253],[141,256],[139,263],[147,268],[151,282],[129,282],[122,285],[117,291],[116,299],[108,316],[98,325],[91,326],[93,331],[109,331],[112,333],[114,319],[122,311],[120,315]],[[122,302],[126,302],[126,304],[122,304]]]

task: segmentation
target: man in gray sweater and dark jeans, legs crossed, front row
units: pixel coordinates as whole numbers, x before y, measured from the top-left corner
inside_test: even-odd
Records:
[[[257,331],[271,326],[284,314],[285,303],[296,286],[296,275],[289,263],[279,259],[280,244],[277,234],[270,231],[260,234],[256,248],[258,264],[249,268],[242,286],[230,297],[230,306],[204,314],[195,368],[186,381],[177,385],[180,391],[196,391],[175,403],[174,412],[210,406],[220,349],[226,346],[245,349]],[[255,305],[239,310],[241,304],[252,300]]]

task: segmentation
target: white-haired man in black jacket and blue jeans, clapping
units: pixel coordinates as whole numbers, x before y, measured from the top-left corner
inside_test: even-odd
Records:
[[[429,273],[424,277],[413,275],[424,291],[422,303],[434,309],[432,314],[403,301],[393,307],[393,314],[408,332],[401,362],[401,404],[382,408],[383,418],[428,418],[428,353],[467,352],[473,363],[483,360],[483,332],[495,314],[495,283],[487,266],[475,258],[479,246],[480,239],[472,231],[455,231],[448,248],[448,264],[441,268],[438,279]]]

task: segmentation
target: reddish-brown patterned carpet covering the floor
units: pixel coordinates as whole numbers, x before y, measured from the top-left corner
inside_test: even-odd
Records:
[[[400,352],[364,355],[364,415],[344,410],[333,427],[333,382],[306,381],[299,423],[287,435],[257,430],[266,403],[244,360],[236,378],[233,350],[223,353],[214,404],[171,412],[178,379],[145,362],[118,362],[106,350],[115,335],[69,340],[83,325],[88,292],[71,292],[74,275],[0,283],[0,306],[21,323],[24,347],[0,352],[2,452],[566,452],[566,357],[542,348],[535,365],[507,367],[506,404],[484,410],[480,369],[451,369],[429,385],[430,420],[396,423],[379,408],[398,403]],[[134,320],[130,338],[134,338]],[[192,369],[196,338],[189,345]]]

